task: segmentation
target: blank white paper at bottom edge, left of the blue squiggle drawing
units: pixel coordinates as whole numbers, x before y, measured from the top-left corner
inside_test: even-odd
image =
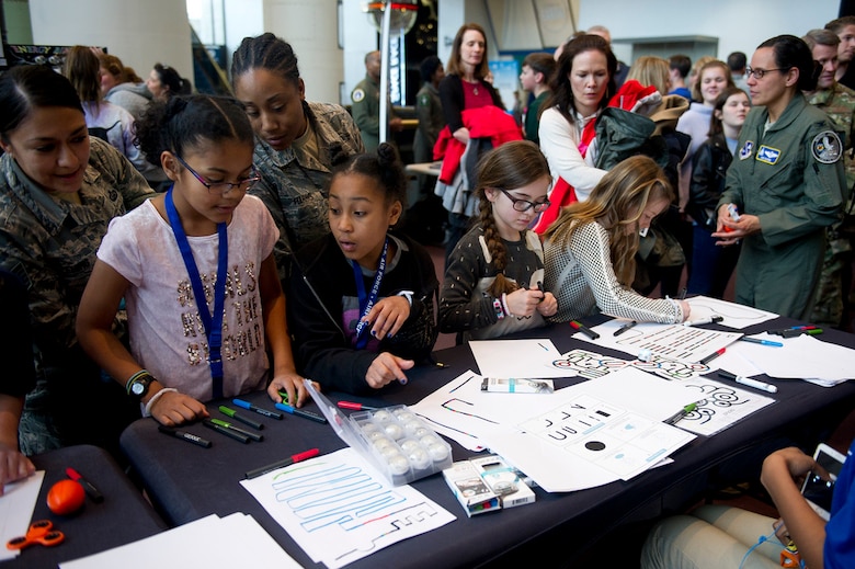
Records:
[[[251,515],[216,514],[132,544],[59,564],[60,569],[187,569],[283,567],[299,569]]]

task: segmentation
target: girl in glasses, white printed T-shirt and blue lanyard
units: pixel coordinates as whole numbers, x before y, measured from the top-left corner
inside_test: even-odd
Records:
[[[137,136],[173,184],[111,223],[80,301],[81,345],[167,425],[207,417],[204,401],[264,387],[274,401],[282,389],[300,406],[308,394],[272,254],[278,231],[246,195],[259,178],[240,103],[152,103]],[[122,298],[129,351],[111,328]]]

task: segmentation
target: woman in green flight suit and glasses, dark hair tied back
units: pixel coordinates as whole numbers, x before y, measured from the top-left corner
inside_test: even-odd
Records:
[[[846,187],[841,139],[801,94],[816,88],[814,70],[810,49],[796,36],[773,37],[754,52],[748,69],[754,109],[713,234],[722,246],[744,240],[737,303],[801,320],[810,315],[824,229],[841,215]]]

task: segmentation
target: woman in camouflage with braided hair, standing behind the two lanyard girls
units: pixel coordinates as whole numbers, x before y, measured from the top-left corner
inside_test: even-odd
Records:
[[[273,34],[241,42],[231,84],[255,130],[261,181],[250,193],[264,202],[280,228],[274,253],[285,286],[293,254],[329,232],[324,189],[332,166],[365,147],[344,107],[306,101],[297,56]]]

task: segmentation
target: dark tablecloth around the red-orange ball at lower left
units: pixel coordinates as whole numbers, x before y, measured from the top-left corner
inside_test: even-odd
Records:
[[[167,528],[105,451],[89,445],[69,446],[32,460],[36,469],[45,471],[32,521],[50,520],[66,538],[55,547],[30,546],[14,560],[0,564],[3,569],[56,568],[59,562],[136,542]],[[57,515],[47,508],[47,492],[55,482],[67,478],[69,466],[92,482],[104,496],[104,501],[94,503],[87,497],[78,512]]]

